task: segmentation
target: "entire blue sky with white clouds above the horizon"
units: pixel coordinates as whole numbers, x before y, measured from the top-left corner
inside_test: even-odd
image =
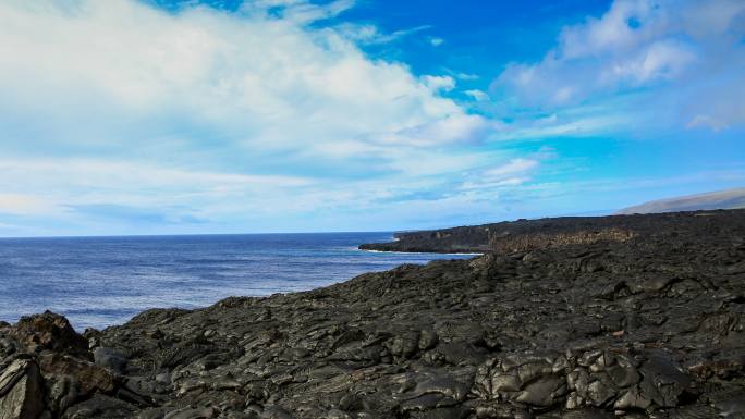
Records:
[[[4,0],[0,236],[395,231],[745,185],[741,0]]]

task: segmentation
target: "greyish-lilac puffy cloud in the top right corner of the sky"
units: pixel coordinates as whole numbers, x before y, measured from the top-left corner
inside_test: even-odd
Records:
[[[542,110],[649,93],[634,106],[674,107],[679,126],[743,123],[734,97],[745,94],[744,22],[737,0],[616,0],[602,16],[565,27],[541,61],[508,65],[492,89]]]

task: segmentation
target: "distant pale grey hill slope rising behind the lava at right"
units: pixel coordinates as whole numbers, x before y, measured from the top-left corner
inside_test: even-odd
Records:
[[[712,209],[745,208],[745,187],[659,199],[624,208],[616,214],[697,211]]]

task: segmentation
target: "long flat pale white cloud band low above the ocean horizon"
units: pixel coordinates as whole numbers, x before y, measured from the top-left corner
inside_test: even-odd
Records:
[[[402,173],[394,180],[243,175],[111,159],[7,159],[0,160],[0,173],[3,173],[0,217],[21,217],[26,220],[22,225],[38,223],[32,220],[42,217],[40,220],[53,223],[53,229],[113,222],[100,227],[107,234],[132,233],[126,229],[137,227],[141,222],[157,222],[162,229],[197,225],[208,232],[224,229],[225,224],[228,232],[235,229],[286,231],[290,220],[307,222],[304,218],[307,213],[377,211],[417,194],[432,194],[442,199],[442,173],[454,173],[456,178],[457,173],[483,165],[488,158],[436,150],[392,152],[396,163],[386,169]],[[24,229],[33,234],[59,234],[59,230],[39,232],[37,226]],[[295,229],[318,226],[312,223]]]

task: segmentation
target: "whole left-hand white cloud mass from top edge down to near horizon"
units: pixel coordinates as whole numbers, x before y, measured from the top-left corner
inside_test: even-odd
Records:
[[[484,164],[453,151],[490,127],[442,96],[455,78],[361,48],[428,27],[330,23],[352,5],[0,2],[0,212],[251,224]]]

